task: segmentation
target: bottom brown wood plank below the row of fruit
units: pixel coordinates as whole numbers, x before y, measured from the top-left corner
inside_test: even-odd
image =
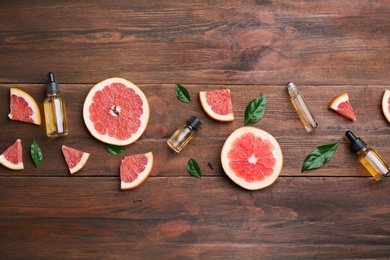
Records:
[[[249,192],[221,177],[151,177],[121,192],[113,177],[0,181],[3,258],[388,256],[388,182],[281,177]]]

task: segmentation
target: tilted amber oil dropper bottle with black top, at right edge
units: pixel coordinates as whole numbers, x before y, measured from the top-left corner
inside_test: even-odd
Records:
[[[351,149],[359,155],[359,161],[370,172],[375,180],[379,181],[389,173],[389,166],[382,157],[351,131],[345,133],[351,142]]]

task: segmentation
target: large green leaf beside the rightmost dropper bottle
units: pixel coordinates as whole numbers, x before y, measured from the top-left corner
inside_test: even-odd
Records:
[[[339,143],[331,143],[318,146],[306,157],[302,165],[301,173],[307,170],[318,169],[327,163],[337,150]]]

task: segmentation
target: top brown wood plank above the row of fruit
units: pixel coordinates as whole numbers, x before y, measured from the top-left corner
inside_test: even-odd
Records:
[[[388,84],[386,1],[0,4],[0,82]],[[34,69],[31,69],[34,68]]]

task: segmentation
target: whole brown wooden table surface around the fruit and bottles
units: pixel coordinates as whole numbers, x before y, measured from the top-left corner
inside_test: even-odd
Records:
[[[390,88],[388,1],[1,1],[0,151],[23,142],[25,169],[0,167],[2,259],[332,259],[390,257],[390,183],[376,182],[350,151],[352,130],[390,162],[381,100]],[[9,89],[30,93],[43,112],[53,71],[70,134],[8,119]],[[147,96],[142,137],[120,155],[93,138],[82,119],[94,84],[123,77]],[[286,92],[293,81],[319,127],[307,133]],[[175,83],[192,102],[175,96]],[[198,92],[229,88],[235,121],[202,111]],[[357,120],[327,109],[348,92]],[[246,105],[265,95],[253,126],[279,141],[280,177],[247,191],[224,173],[225,139],[244,125]],[[180,153],[167,138],[188,117],[203,126]],[[31,160],[33,140],[44,159]],[[301,173],[315,147],[339,142],[322,168]],[[91,153],[70,175],[61,152]],[[120,191],[120,160],[152,151],[151,176]],[[202,178],[186,166],[194,158]]]

